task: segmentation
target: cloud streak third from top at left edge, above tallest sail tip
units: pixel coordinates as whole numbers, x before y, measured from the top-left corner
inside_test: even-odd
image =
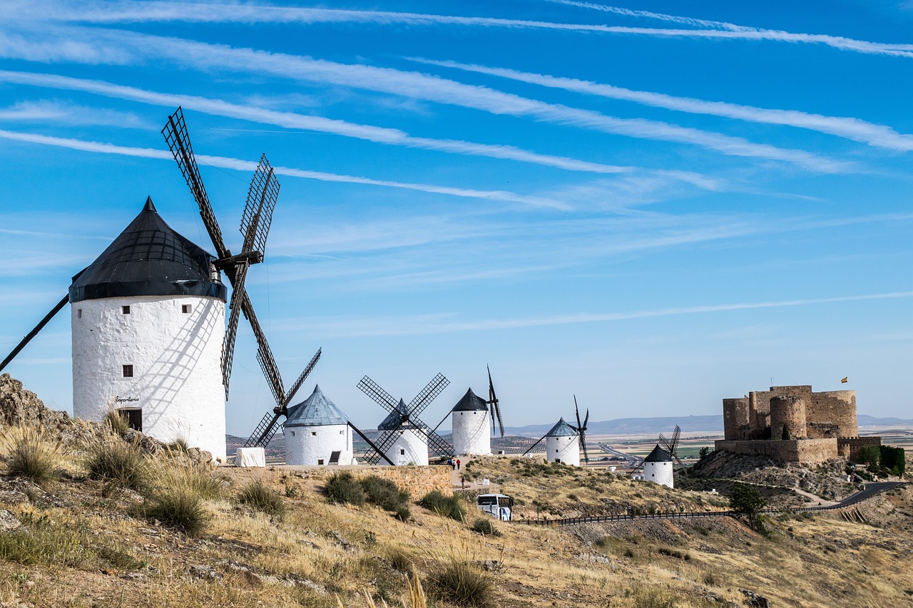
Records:
[[[285,129],[318,131],[389,145],[528,162],[567,171],[589,173],[632,173],[637,171],[651,171],[639,167],[618,166],[600,162],[582,161],[565,156],[540,154],[506,144],[492,145],[486,143],[413,137],[399,129],[332,120],[321,116],[312,116],[295,112],[268,110],[265,108],[241,105],[224,100],[214,100],[195,95],[161,93],[146,89],[137,89],[135,87],[116,85],[100,80],[74,79],[55,74],[0,70],[0,82],[11,82],[52,89],[79,90],[119,100],[139,101],[158,106],[184,106],[184,108],[188,110],[197,110],[206,114],[236,118],[260,124],[270,124]],[[87,118],[85,120],[90,120],[90,117],[95,113],[97,113],[97,110],[87,109],[85,112]],[[0,120],[3,118],[3,110],[0,110]],[[716,190],[720,187],[719,180],[700,175],[699,173],[686,171],[659,171],[657,173],[671,175],[709,190]]]

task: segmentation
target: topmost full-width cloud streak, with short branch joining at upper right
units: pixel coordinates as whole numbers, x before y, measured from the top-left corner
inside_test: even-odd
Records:
[[[657,19],[667,23],[694,26],[696,29],[664,29],[651,27],[607,26],[576,23],[552,23],[529,19],[502,19],[481,16],[430,15],[392,11],[347,10],[275,5],[241,5],[175,2],[30,2],[6,0],[0,4],[0,17],[5,20],[42,20],[73,23],[244,23],[300,24],[358,23],[376,26],[480,26],[506,28],[551,29],[572,32],[602,32],[606,34],[635,34],[659,37],[716,37],[744,40],[823,44],[859,53],[913,57],[913,45],[856,40],[826,34],[793,33],[760,27],[737,26],[722,21],[666,15],[650,11],[631,10],[611,5],[598,5],[572,0],[551,0],[556,4],[577,6],[622,16]]]

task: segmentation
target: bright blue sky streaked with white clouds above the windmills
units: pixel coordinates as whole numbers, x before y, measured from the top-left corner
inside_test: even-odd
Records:
[[[357,425],[490,364],[509,425],[719,414],[776,384],[909,417],[913,4],[6,1],[0,350],[151,195],[212,250],[159,132],[184,112],[290,384]],[[230,433],[272,407],[243,324]],[[58,316],[7,370],[71,404]],[[445,425],[446,426],[446,425]]]

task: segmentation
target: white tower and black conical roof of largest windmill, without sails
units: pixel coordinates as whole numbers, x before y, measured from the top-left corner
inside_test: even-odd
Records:
[[[226,287],[213,257],[147,199],[140,215],[69,288],[73,414],[117,409],[164,442],[226,457]]]

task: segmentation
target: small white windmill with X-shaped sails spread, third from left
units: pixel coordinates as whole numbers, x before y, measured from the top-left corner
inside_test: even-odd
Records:
[[[391,452],[397,450],[398,453],[393,456],[404,456],[397,460],[397,464],[415,462],[416,465],[427,465],[429,452],[436,456],[453,454],[453,448],[418,417],[449,383],[438,373],[409,404],[405,404],[403,399],[397,402],[393,395],[364,376],[357,384],[358,388],[389,413],[377,426],[381,437],[365,455],[364,461],[376,465],[382,456],[387,462],[397,460],[390,457]]]

